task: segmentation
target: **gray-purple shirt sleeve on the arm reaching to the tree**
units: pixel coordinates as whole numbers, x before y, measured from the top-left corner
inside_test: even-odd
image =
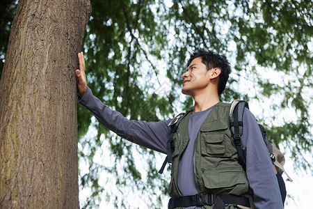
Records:
[[[93,95],[89,87],[87,87],[83,97],[79,98],[79,104],[90,110],[102,125],[118,134],[118,136],[145,148],[166,153],[166,142],[170,136],[168,124],[171,120],[149,123],[146,121],[130,121],[122,116],[120,112],[103,104]]]

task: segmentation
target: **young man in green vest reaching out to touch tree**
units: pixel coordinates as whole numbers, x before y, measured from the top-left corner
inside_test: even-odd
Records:
[[[120,137],[166,153],[170,137],[168,124],[172,120],[129,121],[118,111],[109,109],[86,85],[83,53],[78,56],[79,103]],[[230,134],[230,104],[218,98],[229,74],[230,64],[225,56],[214,52],[196,52],[188,61],[182,75],[182,93],[191,95],[195,103],[173,137],[175,150],[168,208],[283,208],[271,159],[248,109],[243,114],[241,137],[246,172],[239,164]]]

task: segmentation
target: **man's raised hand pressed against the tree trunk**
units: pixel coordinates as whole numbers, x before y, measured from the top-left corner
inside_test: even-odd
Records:
[[[83,52],[78,54],[79,58],[79,70],[76,70],[77,77],[77,95],[83,97],[83,94],[87,90],[86,74],[85,74],[85,59],[83,58]]]

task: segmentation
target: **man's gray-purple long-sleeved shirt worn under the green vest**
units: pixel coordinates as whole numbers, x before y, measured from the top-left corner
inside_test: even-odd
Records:
[[[89,109],[109,130],[120,137],[140,146],[166,153],[166,142],[170,136],[171,120],[160,122],[129,121],[118,111],[114,111],[96,98],[87,88],[79,103]],[[193,150],[195,138],[200,126],[207,118],[212,107],[191,115],[188,124],[190,141],[180,160],[178,186],[183,195],[198,194],[193,173]],[[273,165],[264,144],[262,134],[251,112],[246,109],[243,114],[243,135],[241,137],[243,153],[246,155],[246,174],[253,190],[255,208],[280,209],[282,199]],[[188,207],[194,208],[194,207]]]

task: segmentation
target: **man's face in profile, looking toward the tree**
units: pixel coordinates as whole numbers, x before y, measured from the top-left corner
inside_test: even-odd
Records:
[[[205,90],[209,84],[210,71],[207,70],[207,65],[202,63],[202,57],[193,59],[182,75],[184,79],[182,93],[194,97],[198,92]]]

